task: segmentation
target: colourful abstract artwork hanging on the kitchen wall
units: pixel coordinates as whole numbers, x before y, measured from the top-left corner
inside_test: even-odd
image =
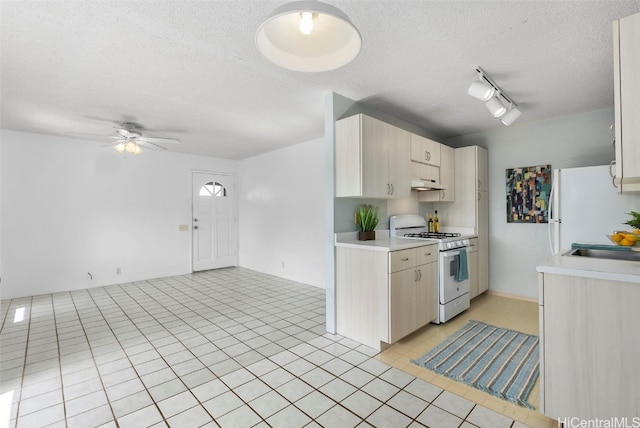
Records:
[[[548,223],[551,165],[507,168],[507,223]]]

